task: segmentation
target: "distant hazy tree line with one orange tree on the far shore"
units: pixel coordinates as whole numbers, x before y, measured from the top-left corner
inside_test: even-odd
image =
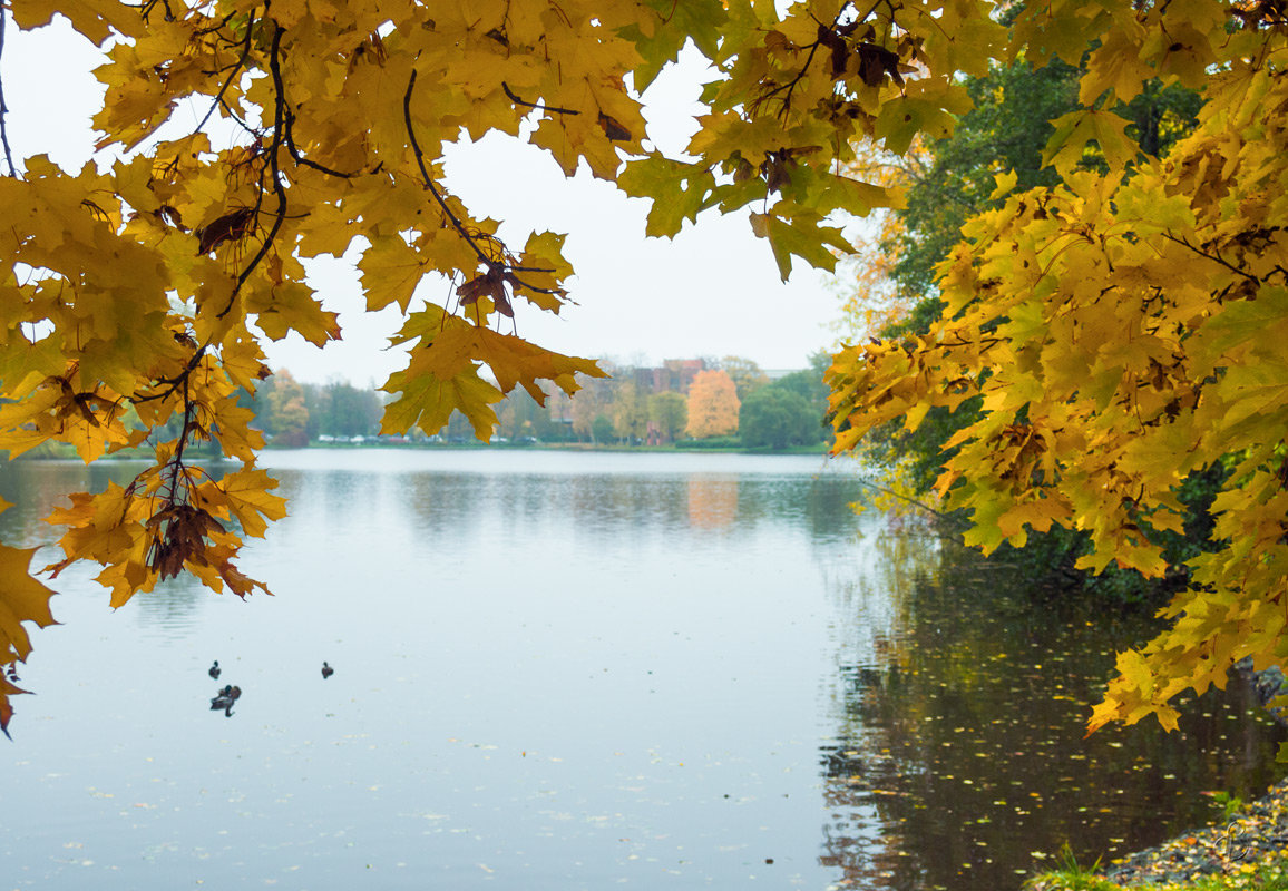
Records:
[[[826,353],[810,367],[786,375],[765,372],[742,357],[668,359],[644,367],[601,361],[608,379],[578,379],[573,397],[562,391],[537,404],[516,389],[496,407],[495,440],[589,443],[595,446],[741,446],[786,449],[829,440],[824,424]],[[260,382],[243,404],[254,411],[272,446],[354,442],[379,435],[386,394],[346,381],[310,384],[287,370]],[[424,436],[420,436],[424,439]],[[474,440],[460,413],[435,438]]]

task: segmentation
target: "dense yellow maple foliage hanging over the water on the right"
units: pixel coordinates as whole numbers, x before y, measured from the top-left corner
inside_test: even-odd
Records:
[[[1016,191],[994,171],[997,206],[938,268],[942,314],[837,355],[837,448],[976,399],[935,484],[967,541],[1063,525],[1088,538],[1081,568],[1154,578],[1182,482],[1207,474],[1218,546],[1186,561],[1167,627],[1119,654],[1088,722],[1175,727],[1177,694],[1288,657],[1288,17],[1258,0],[1032,4],[1011,44],[1037,64],[1086,57],[1043,152],[1060,182]],[[1160,157],[1118,113],[1154,79],[1203,102]]]

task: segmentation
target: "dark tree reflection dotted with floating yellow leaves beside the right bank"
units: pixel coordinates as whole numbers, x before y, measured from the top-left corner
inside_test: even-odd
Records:
[[[903,538],[882,536],[876,581],[838,594],[822,861],[845,881],[1014,888],[1043,865],[1034,851],[1122,856],[1211,820],[1203,791],[1248,797],[1273,782],[1284,734],[1236,682],[1190,703],[1182,733],[1082,739],[1114,650],[1146,622],[1036,604],[971,554]]]

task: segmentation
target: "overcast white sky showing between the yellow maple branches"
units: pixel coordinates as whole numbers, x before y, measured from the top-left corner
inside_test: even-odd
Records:
[[[61,18],[23,33],[10,19],[0,76],[9,106],[15,158],[48,153],[67,169],[90,155],[88,121],[102,88],[89,73],[93,48]],[[677,156],[701,109],[693,75],[663,72],[645,99],[649,138]],[[448,155],[447,187],[475,216],[504,220],[501,237],[522,246],[531,230],[565,232],[564,255],[577,274],[568,291],[577,305],[558,317],[515,304],[518,333],[542,346],[627,364],[662,359],[742,355],[764,368],[802,368],[835,336],[828,324],[840,301],[832,277],[799,259],[791,281],[778,279],[769,243],[744,215],[708,214],[674,239],[645,238],[649,202],[627,198],[582,169],[567,180],[544,152],[504,136]],[[267,345],[269,363],[304,381],[348,379],[380,384],[401,366],[388,349],[399,327],[397,308],[367,313],[357,274],[343,260],[310,267],[310,283],[340,313],[344,340],[318,349],[298,336]],[[419,296],[440,303],[442,279]]]

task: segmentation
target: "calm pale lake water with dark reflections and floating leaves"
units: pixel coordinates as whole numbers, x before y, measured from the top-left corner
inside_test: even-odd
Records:
[[[265,465],[291,515],[242,568],[276,596],[174,583],[113,613],[91,573],[58,579],[0,740],[0,890],[993,891],[1274,779],[1234,685],[1184,733],[1082,740],[1106,648],[1145,630],[855,516],[848,464]],[[48,543],[61,493],[134,473],[3,467],[0,534]]]

